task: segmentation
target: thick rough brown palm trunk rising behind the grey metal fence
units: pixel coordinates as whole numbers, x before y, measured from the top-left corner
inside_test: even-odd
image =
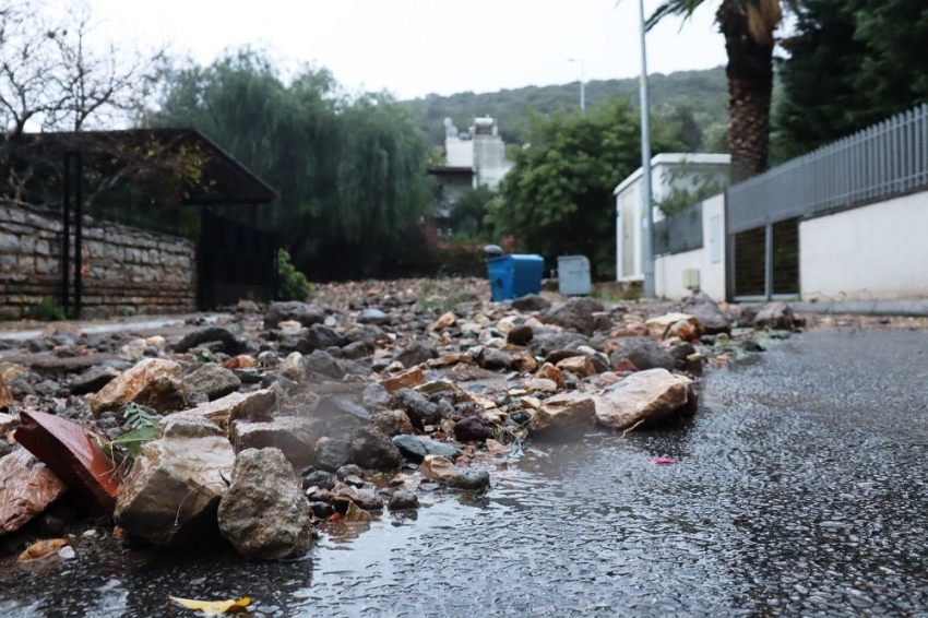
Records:
[[[728,52],[728,150],[735,183],[766,169],[773,44],[759,44],[751,37],[738,0],[723,0],[716,20]]]

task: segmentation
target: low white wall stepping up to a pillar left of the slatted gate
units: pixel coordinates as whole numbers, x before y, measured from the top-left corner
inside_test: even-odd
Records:
[[[705,200],[702,204],[702,249],[657,258],[654,264],[654,285],[657,296],[678,299],[689,295],[683,287],[683,271],[700,273],[700,289],[714,300],[725,300],[725,195]]]

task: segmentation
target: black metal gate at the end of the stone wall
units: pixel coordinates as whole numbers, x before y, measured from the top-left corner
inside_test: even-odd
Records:
[[[198,305],[212,310],[248,298],[273,300],[277,290],[277,239],[265,230],[201,213],[197,248]]]

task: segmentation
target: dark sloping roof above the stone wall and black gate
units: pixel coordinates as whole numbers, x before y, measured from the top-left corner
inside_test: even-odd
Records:
[[[93,142],[108,142],[109,145],[134,147],[146,143],[156,143],[169,148],[195,146],[206,154],[203,164],[203,179],[183,199],[185,203],[197,205],[259,205],[274,201],[277,192],[251,170],[239,163],[231,154],[197,129],[127,129],[120,131],[82,131],[32,133],[26,136],[26,145],[43,151],[72,151],[80,136],[80,150],[93,151]],[[90,142],[90,146],[87,143]]]

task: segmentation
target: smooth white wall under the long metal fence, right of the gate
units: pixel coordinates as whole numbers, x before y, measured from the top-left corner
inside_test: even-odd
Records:
[[[928,297],[928,191],[799,224],[804,300]]]

